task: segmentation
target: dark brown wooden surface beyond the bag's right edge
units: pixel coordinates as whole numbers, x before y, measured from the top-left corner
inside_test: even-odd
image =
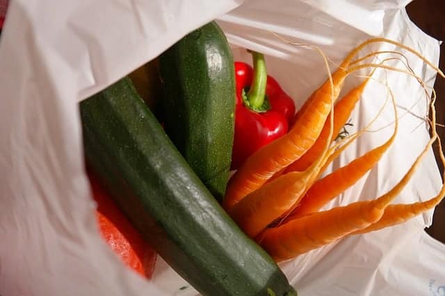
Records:
[[[407,6],[407,13],[412,21],[425,33],[445,41],[445,0],[414,0]],[[445,70],[445,49],[441,47],[439,68]],[[445,124],[445,79],[437,77],[437,123]],[[441,139],[445,139],[445,128],[437,127]],[[434,147],[437,155],[437,145]],[[443,172],[444,167],[439,165]],[[445,243],[445,200],[435,210],[432,226],[426,229],[437,240]]]

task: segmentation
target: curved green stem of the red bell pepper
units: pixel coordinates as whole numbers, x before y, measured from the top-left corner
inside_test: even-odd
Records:
[[[266,96],[266,61],[264,55],[256,51],[251,51],[253,58],[253,79],[247,97],[254,108],[260,108],[263,105]]]

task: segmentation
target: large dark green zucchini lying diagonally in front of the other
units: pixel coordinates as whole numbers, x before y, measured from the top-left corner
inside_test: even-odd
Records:
[[[80,103],[86,162],[158,254],[202,295],[296,295],[225,213],[128,78]]]

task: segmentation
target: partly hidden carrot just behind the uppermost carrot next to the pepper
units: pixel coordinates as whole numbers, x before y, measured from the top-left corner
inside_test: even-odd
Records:
[[[372,74],[371,74],[372,75]],[[371,76],[365,79],[362,84],[357,86],[357,88],[353,88],[350,90],[346,96],[342,97],[337,104],[334,106],[334,129],[332,133],[334,135],[338,135],[340,133],[341,128],[346,124],[346,121],[350,117],[350,113],[352,113],[353,108],[357,101],[360,98],[366,84],[368,83]],[[314,145],[297,161],[293,162],[289,167],[286,168],[285,172],[301,172],[302,170],[306,170],[311,163],[314,162],[316,157],[321,154],[323,151],[323,147],[327,141],[327,137],[329,135],[330,130],[330,121],[325,122],[325,126],[321,130],[320,135],[318,136]]]

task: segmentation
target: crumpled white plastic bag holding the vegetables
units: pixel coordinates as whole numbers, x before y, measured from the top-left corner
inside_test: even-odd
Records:
[[[335,64],[359,42],[384,36],[437,65],[439,42],[410,22],[404,10],[408,2],[12,1],[0,39],[0,295],[196,295],[161,260],[152,282],[140,279],[100,238],[83,167],[77,103],[215,18],[236,59],[250,61],[245,48],[266,54],[268,72],[298,107],[327,72],[316,51],[286,44],[277,35],[320,47]],[[394,49],[387,44],[370,48]],[[435,72],[407,56],[432,85]],[[378,71],[375,78],[385,75],[401,117],[396,142],[369,174],[326,208],[381,195],[429,138],[419,83],[394,72]],[[350,76],[345,90],[359,81]],[[350,132],[366,126],[386,97],[384,85],[371,83],[351,117]],[[329,170],[384,142],[393,117],[388,104],[372,125],[378,131],[365,133]],[[440,184],[430,151],[396,202],[428,199]],[[280,266],[303,296],[440,295],[443,262],[425,254],[445,254],[423,232],[431,217],[429,211],[391,229],[350,236]]]

